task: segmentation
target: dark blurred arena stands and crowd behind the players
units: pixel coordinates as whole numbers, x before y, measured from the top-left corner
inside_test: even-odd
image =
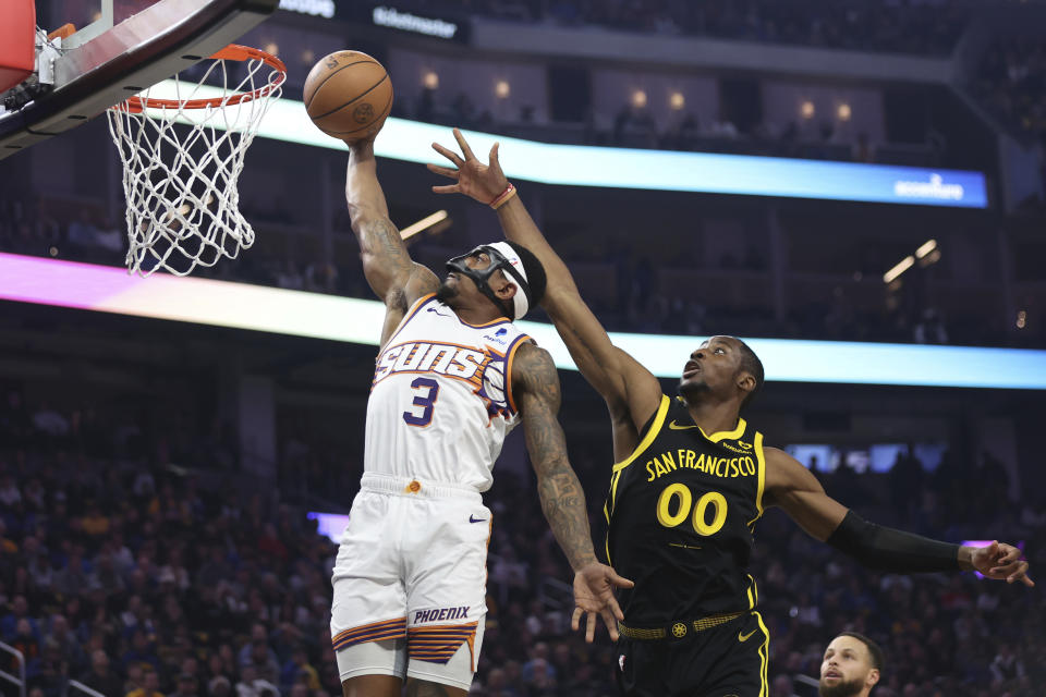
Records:
[[[77,3],[37,11],[53,28]],[[278,54],[285,98],[299,100],[319,58],[366,51],[392,76],[392,115],[448,126],[447,144],[457,125],[981,172],[984,208],[516,184],[613,331],[695,345],[734,334],[1046,348],[1046,3],[287,0],[240,42]],[[345,160],[258,138],[240,182],[257,243],[195,276],[372,297],[341,194]],[[121,175],[104,119],[3,160],[0,252],[121,266]],[[397,224],[448,211],[411,244],[437,271],[500,234],[482,206],[431,194],[439,182],[421,164],[382,158],[379,175]],[[888,273],[931,240],[932,253]],[[345,513],[358,490],[374,356],[0,303],[0,640],[26,657],[28,692],[340,694],[327,632],[336,547],[318,529],[329,521],[309,514]],[[598,548],[606,408],[576,372],[561,379]],[[862,515],[1020,542],[1033,577],[1046,541],[1044,417],[1035,390],[794,382],[769,382],[746,414]],[[486,498],[490,611],[474,694],[616,694],[606,636],[589,647],[569,631],[571,574],[520,439]],[[1043,694],[1039,590],[867,572],[773,511],[755,539],[773,697],[815,694],[822,651],[844,628],[886,650],[877,697]],[[19,671],[10,653],[0,668]]]

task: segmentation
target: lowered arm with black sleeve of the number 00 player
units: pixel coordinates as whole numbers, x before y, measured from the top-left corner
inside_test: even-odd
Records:
[[[825,493],[799,461],[766,449],[766,504],[778,505],[813,537],[865,566],[900,573],[978,571],[1007,583],[1034,586],[1021,550],[1002,542],[970,547],[932,540],[869,523]]]

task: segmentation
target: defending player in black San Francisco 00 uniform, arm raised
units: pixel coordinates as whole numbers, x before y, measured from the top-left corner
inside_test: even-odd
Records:
[[[501,172],[498,146],[484,164],[457,130],[454,137],[463,157],[433,145],[454,169],[428,167],[457,183],[434,191],[494,204],[506,236],[540,259],[548,277],[542,305],[610,411],[617,464],[605,506],[607,554],[618,573],[635,582],[620,597],[622,694],[767,694],[769,637],[746,568],[753,526],[769,506],[780,506],[810,535],[867,566],[975,568],[1032,585],[1017,548],[960,547],[865,522],[829,498],[802,464],[765,447],[762,433],[740,417],[763,384],[763,365],[739,339],[702,342],[680,358],[679,395],[662,394],[658,379],[610,342],[581,298],[567,266]],[[575,627],[582,614],[575,610]],[[595,622],[587,613],[589,637]]]

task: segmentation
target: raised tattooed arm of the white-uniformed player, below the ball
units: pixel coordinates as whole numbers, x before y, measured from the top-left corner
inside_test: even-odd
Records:
[[[385,302],[381,330],[385,344],[414,301],[435,292],[439,281],[435,273],[411,260],[400,231],[389,220],[385,193],[378,183],[373,139],[350,146],[345,200],[352,231],[360,243],[364,276],[374,294]]]

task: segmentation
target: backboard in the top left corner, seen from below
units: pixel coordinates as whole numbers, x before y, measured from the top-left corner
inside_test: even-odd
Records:
[[[28,0],[9,0],[24,2]],[[4,93],[0,159],[73,129],[207,58],[269,16],[279,0],[37,0],[42,33],[76,33]],[[37,38],[40,44],[42,39]],[[38,83],[52,82],[50,86]]]

